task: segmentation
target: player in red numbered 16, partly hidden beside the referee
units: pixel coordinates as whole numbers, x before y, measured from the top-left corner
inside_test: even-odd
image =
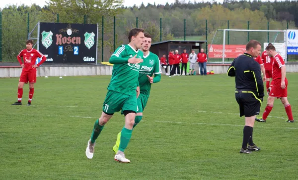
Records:
[[[269,43],[268,45],[272,45]],[[273,57],[270,57],[266,50],[262,53],[262,61],[264,62],[264,67],[265,67],[265,73],[266,73],[266,90],[267,94],[269,95],[270,91],[270,78],[272,80],[272,62],[273,62]]]

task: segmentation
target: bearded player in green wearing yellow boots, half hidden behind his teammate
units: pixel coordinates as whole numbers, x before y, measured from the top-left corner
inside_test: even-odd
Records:
[[[161,69],[159,58],[156,54],[153,54],[149,51],[151,46],[151,36],[148,33],[145,33],[145,42],[142,45],[142,51],[144,53],[144,61],[141,64],[139,72],[139,84],[140,84],[140,95],[138,97],[138,111],[135,118],[135,124],[133,129],[140,123],[143,117],[143,111],[147,105],[151,84],[158,83],[161,78]],[[152,75],[154,74],[154,78]],[[122,132],[117,135],[116,144],[113,147],[113,151],[118,152],[119,147],[122,143]],[[119,146],[120,145],[120,146]]]

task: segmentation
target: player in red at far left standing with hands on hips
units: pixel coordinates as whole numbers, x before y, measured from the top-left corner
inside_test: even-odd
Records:
[[[24,84],[29,82],[29,100],[28,106],[31,105],[31,100],[34,93],[34,83],[36,83],[36,68],[39,67],[47,59],[42,53],[38,50],[32,48],[33,41],[26,41],[26,49],[23,49],[17,56],[17,60],[22,66],[22,73],[18,83],[17,89],[17,102],[11,105],[22,105],[22,95]],[[23,61],[21,57],[23,57]],[[36,59],[41,58],[42,60],[36,65]]]

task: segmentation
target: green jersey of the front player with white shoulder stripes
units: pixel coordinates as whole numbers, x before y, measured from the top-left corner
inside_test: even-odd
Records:
[[[142,59],[143,52],[139,49],[134,49],[131,45],[121,45],[112,54],[109,62],[114,64],[114,67],[108,90],[128,95],[136,94],[140,64],[128,62],[128,59],[136,54],[136,58]]]

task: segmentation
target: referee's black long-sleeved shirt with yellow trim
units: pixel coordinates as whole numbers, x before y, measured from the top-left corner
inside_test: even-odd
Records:
[[[250,54],[236,57],[228,67],[227,75],[235,77],[236,89],[252,90],[258,93],[259,98],[264,97],[261,67]]]

